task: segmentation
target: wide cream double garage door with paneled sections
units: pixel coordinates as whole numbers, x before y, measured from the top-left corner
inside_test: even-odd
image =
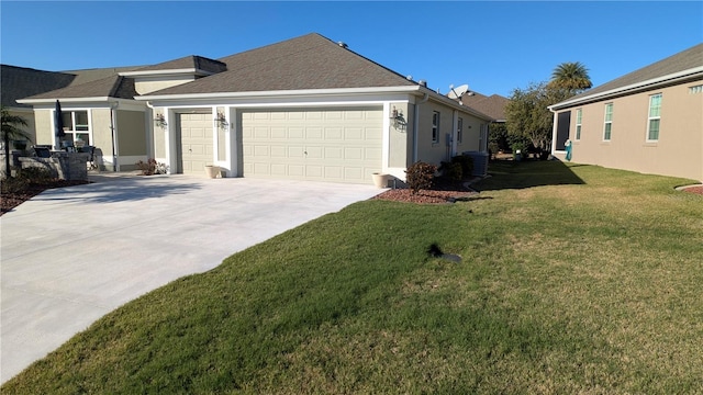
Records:
[[[371,183],[382,108],[242,112],[244,177]]]

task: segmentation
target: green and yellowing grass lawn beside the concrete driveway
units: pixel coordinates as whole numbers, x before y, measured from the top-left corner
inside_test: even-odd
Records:
[[[152,292],[2,393],[701,392],[691,181],[490,170],[478,199],[357,203]]]

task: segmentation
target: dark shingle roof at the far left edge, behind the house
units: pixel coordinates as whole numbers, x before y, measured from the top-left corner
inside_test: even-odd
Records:
[[[31,105],[20,104],[15,100],[68,87],[76,79],[72,74],[0,66],[0,99],[3,106],[30,108]]]

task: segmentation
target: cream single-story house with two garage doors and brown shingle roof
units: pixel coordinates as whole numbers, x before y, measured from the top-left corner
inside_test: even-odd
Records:
[[[18,100],[53,144],[60,101],[69,137],[101,168],[154,158],[170,173],[370,183],[422,160],[487,150],[490,115],[312,33],[220,59],[187,56]],[[80,75],[80,74],[78,74]]]

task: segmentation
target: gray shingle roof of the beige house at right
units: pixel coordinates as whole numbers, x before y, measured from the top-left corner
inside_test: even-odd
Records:
[[[690,70],[696,67],[703,67],[703,43],[694,45],[689,49],[682,50],[649,66],[626,74],[593,89],[587,90],[585,92],[579,93],[573,98],[570,98],[565,102],[554,104],[553,106],[559,106],[560,104],[567,102],[578,102],[581,99],[590,98],[610,91],[616,91],[626,87],[637,86],[645,81],[665,78],[667,76]]]

